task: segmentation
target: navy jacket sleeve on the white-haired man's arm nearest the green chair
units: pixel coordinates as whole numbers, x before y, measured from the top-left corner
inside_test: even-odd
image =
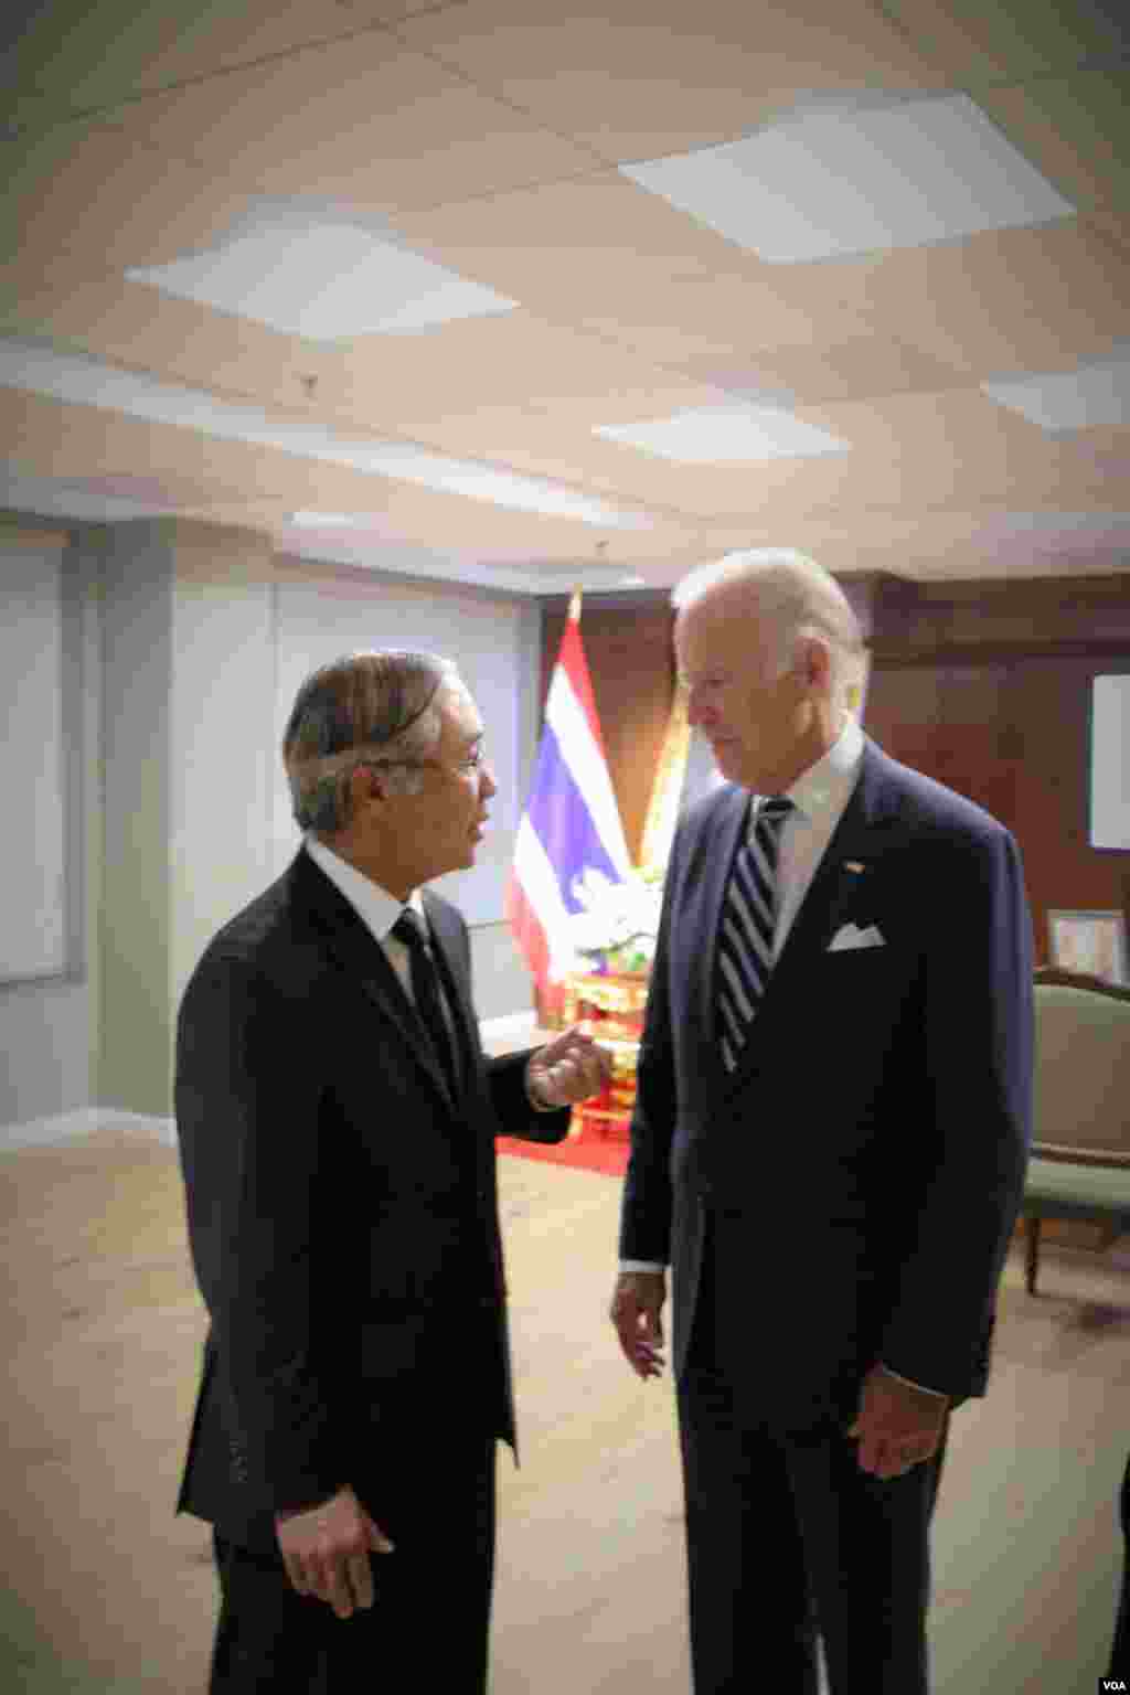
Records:
[[[1032,924],[1020,854],[996,829],[939,849],[925,953],[928,1149],[879,1358],[961,1398],[984,1375],[996,1285],[1032,1134]]]

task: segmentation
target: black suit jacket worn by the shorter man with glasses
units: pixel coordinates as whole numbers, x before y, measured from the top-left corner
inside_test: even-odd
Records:
[[[493,1142],[561,1141],[569,1115],[530,1109],[527,1054],[485,1061],[466,925],[424,905],[457,1100],[383,948],[305,851],[213,937],[181,1002],[176,1129],[212,1325],[178,1509],[237,1541],[274,1546],[274,1510],[379,1487],[381,1432],[452,1397],[461,1429],[513,1441]]]

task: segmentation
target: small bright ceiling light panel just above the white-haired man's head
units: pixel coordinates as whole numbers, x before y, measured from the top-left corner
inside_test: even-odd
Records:
[[[849,449],[839,436],[805,424],[779,407],[691,407],[645,424],[601,424],[593,434],[693,464],[791,459]]]

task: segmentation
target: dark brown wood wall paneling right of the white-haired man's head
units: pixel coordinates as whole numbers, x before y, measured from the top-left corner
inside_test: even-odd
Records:
[[[1130,854],[1088,844],[1091,683],[1130,671],[1130,580],[898,585],[874,647],[869,734],[1013,831],[1037,959],[1049,909],[1130,922]]]

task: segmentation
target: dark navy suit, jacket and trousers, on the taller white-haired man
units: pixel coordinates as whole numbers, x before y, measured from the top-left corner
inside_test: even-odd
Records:
[[[866,742],[737,1070],[715,944],[749,795],[679,829],[620,1251],[671,1261],[698,1695],[925,1688],[935,1478],[844,1437],[883,1363],[983,1393],[1030,1134],[1032,939],[1011,836]],[[883,944],[830,949],[845,925]],[[759,1681],[761,1680],[761,1681]]]

